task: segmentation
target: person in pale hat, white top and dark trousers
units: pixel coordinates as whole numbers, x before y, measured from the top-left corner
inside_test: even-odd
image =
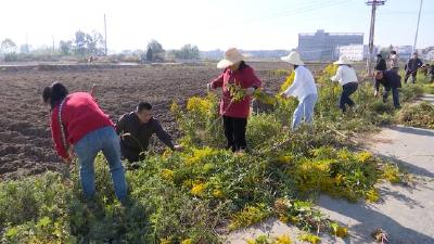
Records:
[[[345,113],[346,104],[350,107],[355,105],[349,97],[357,91],[359,84],[356,70],[352,67],[353,63],[346,56],[341,56],[334,64],[339,65],[339,67],[336,75],[331,77],[331,80],[339,81],[342,86],[340,108]]]

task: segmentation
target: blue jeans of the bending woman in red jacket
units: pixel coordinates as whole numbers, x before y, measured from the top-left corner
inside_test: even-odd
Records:
[[[127,197],[127,182],[120,160],[119,137],[113,127],[104,127],[87,133],[74,145],[80,164],[80,180],[85,197],[95,194],[94,158],[102,151],[108,162],[115,194],[119,201]]]

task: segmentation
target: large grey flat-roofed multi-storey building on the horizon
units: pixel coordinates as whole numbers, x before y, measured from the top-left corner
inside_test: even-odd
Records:
[[[298,34],[298,48],[302,59],[306,61],[336,60],[336,47],[348,44],[363,44],[361,33],[317,33]]]

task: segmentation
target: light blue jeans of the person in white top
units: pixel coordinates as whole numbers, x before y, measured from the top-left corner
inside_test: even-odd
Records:
[[[294,117],[292,119],[292,130],[295,130],[299,126],[303,118],[307,124],[309,125],[312,124],[314,108],[315,104],[317,103],[317,100],[318,100],[317,94],[309,94],[298,102],[298,106],[294,111]]]

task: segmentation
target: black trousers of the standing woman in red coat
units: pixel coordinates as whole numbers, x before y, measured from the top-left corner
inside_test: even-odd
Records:
[[[228,140],[227,149],[233,152],[247,149],[245,130],[247,118],[224,116],[225,137]]]

